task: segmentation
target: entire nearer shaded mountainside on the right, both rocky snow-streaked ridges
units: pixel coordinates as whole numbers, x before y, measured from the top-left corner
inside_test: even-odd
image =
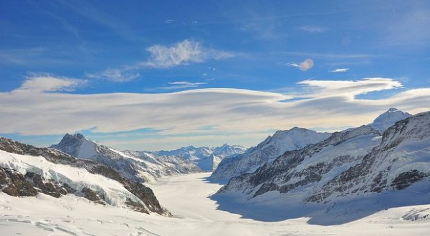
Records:
[[[287,151],[252,174],[232,178],[218,194],[246,201],[336,203],[415,185],[418,198],[430,192],[429,157],[430,112],[424,112],[397,121],[382,136],[361,126]]]

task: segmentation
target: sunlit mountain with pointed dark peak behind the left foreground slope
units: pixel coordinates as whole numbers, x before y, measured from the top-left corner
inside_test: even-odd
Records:
[[[94,160],[138,182],[153,182],[162,176],[199,172],[200,169],[180,156],[159,157],[152,153],[122,152],[88,140],[83,135],[66,134],[59,144],[51,146],[76,158]]]

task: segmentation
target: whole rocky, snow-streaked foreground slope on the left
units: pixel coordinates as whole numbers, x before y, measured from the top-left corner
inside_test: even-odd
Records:
[[[152,189],[97,162],[0,137],[0,189],[10,196],[71,195],[102,205],[171,215]]]

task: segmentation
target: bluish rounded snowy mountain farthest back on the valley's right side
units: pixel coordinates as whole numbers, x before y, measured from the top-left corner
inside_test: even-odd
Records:
[[[212,180],[223,181],[244,173],[250,173],[271,162],[285,151],[300,149],[327,139],[331,134],[317,133],[306,128],[294,127],[290,130],[278,130],[255,147],[235,158],[221,161],[212,173]]]

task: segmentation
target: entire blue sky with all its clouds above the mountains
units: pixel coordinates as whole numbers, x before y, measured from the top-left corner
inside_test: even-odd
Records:
[[[255,146],[430,110],[429,1],[0,0],[0,135]]]

